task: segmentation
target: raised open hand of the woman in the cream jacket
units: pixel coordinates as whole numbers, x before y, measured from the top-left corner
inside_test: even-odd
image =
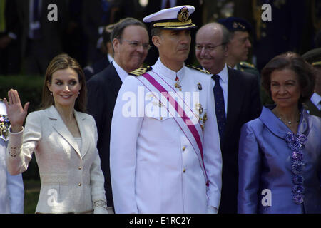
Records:
[[[24,119],[26,118],[29,102],[22,108],[21,101],[17,90],[8,91],[9,102],[4,98],[4,104],[6,105],[6,114],[8,115],[11,123],[11,132],[17,133],[22,130]]]

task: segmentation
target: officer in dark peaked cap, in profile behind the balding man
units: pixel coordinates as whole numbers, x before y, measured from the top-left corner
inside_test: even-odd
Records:
[[[228,43],[228,57],[226,62],[230,68],[235,70],[253,73],[260,79],[260,73],[248,60],[248,54],[252,44],[250,41],[251,25],[245,19],[228,17],[219,19],[218,23],[223,24],[230,31],[230,43]]]

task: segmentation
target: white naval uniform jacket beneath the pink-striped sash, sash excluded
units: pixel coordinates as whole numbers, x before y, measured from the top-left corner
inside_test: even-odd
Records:
[[[200,118],[206,113],[203,161],[209,185],[185,133],[166,105],[154,99],[160,93],[154,90],[153,96],[138,80],[142,76],[128,76],[118,93],[111,125],[116,213],[206,213],[209,207],[218,208],[222,157],[210,76],[186,66],[176,73],[160,59],[147,73],[161,76],[173,88],[177,76],[179,86],[174,89],[181,86],[185,103],[197,115],[201,108]],[[189,102],[193,95],[199,96],[199,102]]]

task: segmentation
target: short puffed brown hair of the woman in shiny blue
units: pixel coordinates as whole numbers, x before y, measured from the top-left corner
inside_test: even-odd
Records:
[[[294,52],[282,53],[272,58],[261,72],[262,86],[271,97],[271,74],[273,71],[290,69],[294,71],[301,88],[299,103],[309,100],[315,87],[315,71],[300,55]]]

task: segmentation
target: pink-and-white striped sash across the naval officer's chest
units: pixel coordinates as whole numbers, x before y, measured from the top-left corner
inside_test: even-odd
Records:
[[[171,115],[173,115],[173,118],[175,119],[176,123],[178,123],[178,125],[180,126],[180,129],[183,130],[183,133],[186,135],[186,137],[190,141],[190,144],[192,145],[196,155],[198,156],[198,160],[200,161],[200,165],[201,165],[203,173],[204,173],[206,185],[208,185],[208,177],[207,177],[206,170],[205,170],[204,156],[203,156],[203,130],[200,126],[200,123],[197,122],[195,125],[190,124],[190,123],[192,123],[192,120],[190,120],[188,115],[186,115],[185,111],[179,105],[177,100],[175,100],[170,95],[170,93],[168,93],[168,90],[172,90],[174,93],[176,93],[176,91],[173,88],[170,88],[168,83],[166,83],[163,80],[163,78],[161,78],[157,74],[156,74],[156,77],[159,78],[161,83],[156,81],[156,79],[153,78],[153,76],[151,76],[148,73],[144,73],[142,75],[142,77],[138,77],[137,79],[139,81],[141,81],[143,86],[145,86],[151,93],[153,93],[152,92],[154,90],[153,88],[156,88],[156,90],[158,90],[162,95],[163,95],[163,93],[166,94],[165,98],[168,100],[170,105],[172,105],[172,107],[175,109],[175,113],[174,114],[170,113],[168,108],[167,107],[166,108],[167,108],[168,112]],[[166,89],[166,88],[168,88],[168,89]],[[180,99],[183,100],[183,98],[180,98]],[[159,101],[161,102],[161,100],[159,100]],[[184,100],[183,100],[183,102],[184,102]],[[193,113],[193,110],[191,110],[191,111]],[[178,113],[183,113],[183,116],[179,115]]]

